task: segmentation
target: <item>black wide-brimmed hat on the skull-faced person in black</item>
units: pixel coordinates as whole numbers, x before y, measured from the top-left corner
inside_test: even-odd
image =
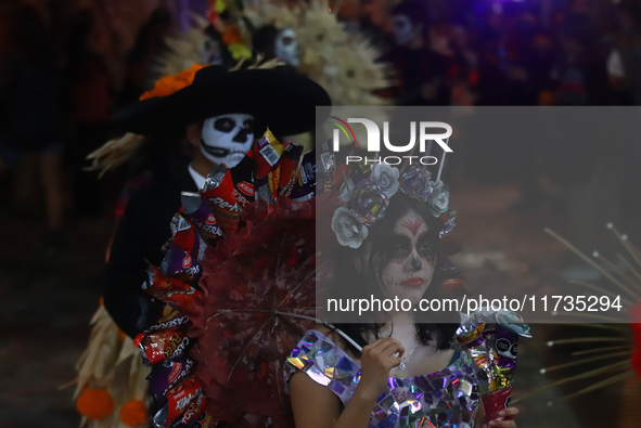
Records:
[[[117,109],[112,120],[125,131],[150,137],[184,135],[185,126],[209,117],[246,113],[256,133],[269,127],[277,135],[313,130],[316,106],[330,106],[330,95],[307,77],[285,69],[220,66],[198,70],[192,85]]]

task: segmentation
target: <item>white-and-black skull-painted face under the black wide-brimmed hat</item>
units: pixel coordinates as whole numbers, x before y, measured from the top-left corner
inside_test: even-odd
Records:
[[[252,148],[254,117],[239,113],[210,117],[203,124],[201,152],[215,164],[235,167]]]

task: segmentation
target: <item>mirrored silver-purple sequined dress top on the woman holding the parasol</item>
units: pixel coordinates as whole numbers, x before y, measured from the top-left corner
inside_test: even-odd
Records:
[[[286,376],[300,369],[328,387],[344,404],[360,381],[360,366],[317,330],[308,330],[287,359]],[[369,428],[471,428],[478,407],[478,388],[464,353],[441,372],[389,378],[379,397]]]

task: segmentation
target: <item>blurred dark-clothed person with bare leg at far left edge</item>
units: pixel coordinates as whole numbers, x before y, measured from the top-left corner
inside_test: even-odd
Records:
[[[37,247],[54,252],[63,222],[63,106],[56,39],[40,11],[20,5],[5,16],[9,51],[0,64],[0,174],[37,153],[47,206],[47,236]]]

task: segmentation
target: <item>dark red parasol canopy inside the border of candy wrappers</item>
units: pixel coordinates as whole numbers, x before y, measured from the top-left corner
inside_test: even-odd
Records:
[[[229,418],[242,408],[284,427],[291,410],[283,363],[315,324],[315,204],[279,198],[245,212],[246,226],[208,248],[203,262],[191,354],[207,395],[219,399],[218,414],[227,407],[226,419],[235,423]]]

